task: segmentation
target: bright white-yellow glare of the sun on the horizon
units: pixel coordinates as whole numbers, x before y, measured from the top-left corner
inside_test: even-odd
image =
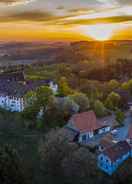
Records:
[[[83,28],[83,33],[90,36],[92,39],[105,41],[112,37],[117,26],[114,24],[96,24]]]

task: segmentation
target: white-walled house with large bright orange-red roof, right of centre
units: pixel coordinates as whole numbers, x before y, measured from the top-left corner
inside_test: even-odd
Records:
[[[81,144],[87,144],[95,135],[104,134],[111,129],[97,120],[93,111],[74,114],[66,127],[78,133],[78,142]]]

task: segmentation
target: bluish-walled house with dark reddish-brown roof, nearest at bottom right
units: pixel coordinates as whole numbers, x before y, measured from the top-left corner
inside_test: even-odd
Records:
[[[130,145],[126,141],[118,142],[99,154],[98,167],[108,175],[112,175],[130,156]]]

